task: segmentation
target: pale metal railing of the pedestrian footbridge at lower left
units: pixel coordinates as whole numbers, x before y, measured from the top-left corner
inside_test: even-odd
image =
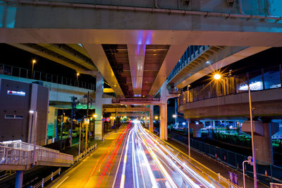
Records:
[[[34,146],[22,141],[9,141],[0,143],[0,165],[31,165],[33,162]],[[73,155],[36,146],[35,162],[44,165],[71,165]]]

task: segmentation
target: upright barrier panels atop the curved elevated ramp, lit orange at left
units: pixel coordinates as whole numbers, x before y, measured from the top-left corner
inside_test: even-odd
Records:
[[[236,76],[237,78],[222,78],[222,81],[214,81],[186,90],[179,97],[179,106],[198,100],[245,93],[247,92],[247,86],[243,81],[249,84],[252,91],[281,88],[281,75],[280,64],[278,66],[240,74]]]

